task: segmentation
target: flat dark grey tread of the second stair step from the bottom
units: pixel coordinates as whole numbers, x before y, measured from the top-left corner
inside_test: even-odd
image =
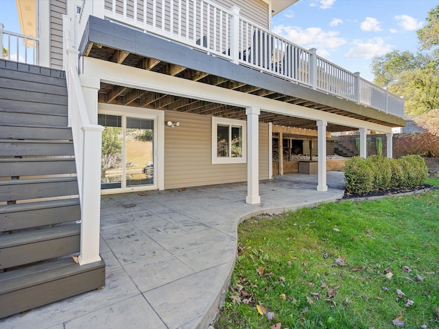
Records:
[[[15,247],[16,245],[38,243],[40,241],[61,239],[67,236],[75,236],[79,235],[80,231],[80,224],[69,224],[56,226],[55,228],[41,228],[38,230],[2,234],[0,235],[0,249]]]

